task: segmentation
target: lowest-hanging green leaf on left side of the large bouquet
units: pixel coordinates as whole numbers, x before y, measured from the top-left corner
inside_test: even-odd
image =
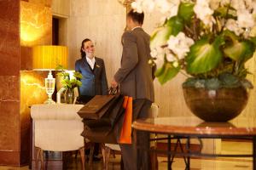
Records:
[[[180,67],[174,67],[172,63],[165,63],[155,72],[155,76],[158,77],[160,84],[164,84],[175,77],[178,71],[180,71]]]

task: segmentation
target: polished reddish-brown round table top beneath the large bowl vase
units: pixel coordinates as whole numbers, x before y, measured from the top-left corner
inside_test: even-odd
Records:
[[[173,135],[256,135],[256,118],[236,118],[230,122],[204,122],[197,117],[158,117],[139,119],[132,127],[151,133],[168,133]]]

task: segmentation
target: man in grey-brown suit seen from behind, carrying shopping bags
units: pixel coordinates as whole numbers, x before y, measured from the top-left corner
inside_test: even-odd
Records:
[[[113,77],[111,86],[119,84],[120,93],[133,99],[132,118],[148,117],[148,111],[154,101],[153,68],[148,65],[150,56],[149,35],[143,31],[144,14],[130,11],[127,14],[128,31],[122,36],[123,54],[121,66]],[[125,170],[149,169],[150,161],[147,152],[137,152],[137,142],[148,144],[149,136],[137,133],[137,140],[132,138],[132,144],[120,144]],[[146,147],[149,147],[146,146]]]

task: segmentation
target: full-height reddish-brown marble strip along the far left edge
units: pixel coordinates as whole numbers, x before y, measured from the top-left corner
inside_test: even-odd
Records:
[[[20,165],[20,0],[0,0],[0,164]]]

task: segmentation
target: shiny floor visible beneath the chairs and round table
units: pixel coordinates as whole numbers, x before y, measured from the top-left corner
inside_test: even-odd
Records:
[[[242,154],[251,152],[251,144],[223,143],[222,153],[232,153],[236,148]],[[108,169],[119,170],[120,156],[110,158]],[[159,157],[159,169],[166,170],[166,157]],[[0,167],[0,170],[27,170],[28,167]],[[79,158],[71,158],[67,163],[67,170],[80,170],[81,163]],[[93,164],[93,170],[102,170],[102,161]],[[217,158],[217,159],[192,159],[191,170],[250,170],[253,169],[250,158]],[[184,162],[181,158],[176,158],[172,165],[172,170],[184,170]]]

